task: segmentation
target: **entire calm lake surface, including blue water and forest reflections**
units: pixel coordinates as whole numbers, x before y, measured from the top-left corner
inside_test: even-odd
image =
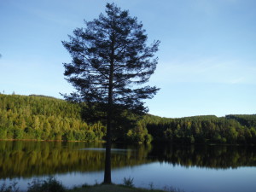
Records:
[[[54,176],[67,187],[102,183],[102,143],[0,141],[0,185],[25,190],[33,178]],[[237,146],[113,145],[113,183],[185,192],[255,192],[256,148]]]

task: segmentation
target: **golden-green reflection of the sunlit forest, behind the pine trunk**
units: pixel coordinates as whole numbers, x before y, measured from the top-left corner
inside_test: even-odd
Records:
[[[150,146],[113,150],[112,167],[147,163]],[[93,150],[84,150],[91,148]],[[102,143],[0,142],[0,178],[54,175],[65,172],[96,172],[104,168]],[[81,150],[82,149],[82,150]]]

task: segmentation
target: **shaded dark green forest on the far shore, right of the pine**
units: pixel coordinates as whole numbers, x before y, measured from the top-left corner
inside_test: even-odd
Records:
[[[146,115],[140,122],[154,141],[256,144],[256,115],[195,116],[166,119]]]

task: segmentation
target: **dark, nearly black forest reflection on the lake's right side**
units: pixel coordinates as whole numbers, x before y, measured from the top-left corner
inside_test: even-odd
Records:
[[[151,160],[180,166],[213,169],[256,166],[255,146],[155,145],[148,153]]]

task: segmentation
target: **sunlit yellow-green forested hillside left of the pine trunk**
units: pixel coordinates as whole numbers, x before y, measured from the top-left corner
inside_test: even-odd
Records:
[[[101,122],[87,125],[77,104],[49,96],[0,94],[0,139],[102,140]]]

